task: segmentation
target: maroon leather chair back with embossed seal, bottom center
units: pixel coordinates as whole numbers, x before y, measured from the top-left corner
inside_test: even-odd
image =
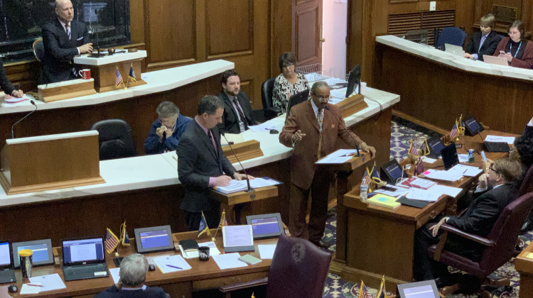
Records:
[[[267,298],[322,297],[331,253],[301,239],[279,236],[270,265]]]

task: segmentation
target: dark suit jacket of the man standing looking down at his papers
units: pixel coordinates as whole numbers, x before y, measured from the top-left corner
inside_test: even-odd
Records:
[[[209,177],[218,177],[224,173],[233,176],[237,172],[222,152],[218,129],[211,128],[211,131],[217,143],[217,152],[195,119],[190,121],[176,148],[178,178],[184,186],[180,208],[185,211],[200,212],[220,208],[220,203],[211,197]]]

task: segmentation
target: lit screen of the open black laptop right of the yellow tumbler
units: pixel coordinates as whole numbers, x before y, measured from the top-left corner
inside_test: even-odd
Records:
[[[102,238],[63,241],[63,264],[103,263],[104,243]]]

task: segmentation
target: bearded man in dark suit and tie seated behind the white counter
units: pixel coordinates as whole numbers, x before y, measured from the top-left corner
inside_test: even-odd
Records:
[[[222,124],[218,130],[225,133],[242,133],[255,125],[250,99],[241,90],[241,79],[235,70],[226,70],[220,77],[222,92],[218,97],[224,101]]]

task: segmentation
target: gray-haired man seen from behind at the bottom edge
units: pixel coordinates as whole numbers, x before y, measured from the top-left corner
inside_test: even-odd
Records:
[[[120,280],[117,285],[112,285],[104,292],[100,292],[95,298],[166,298],[165,291],[161,287],[146,287],[146,275],[148,274],[148,260],[144,255],[134,253],[128,255],[120,263]]]

